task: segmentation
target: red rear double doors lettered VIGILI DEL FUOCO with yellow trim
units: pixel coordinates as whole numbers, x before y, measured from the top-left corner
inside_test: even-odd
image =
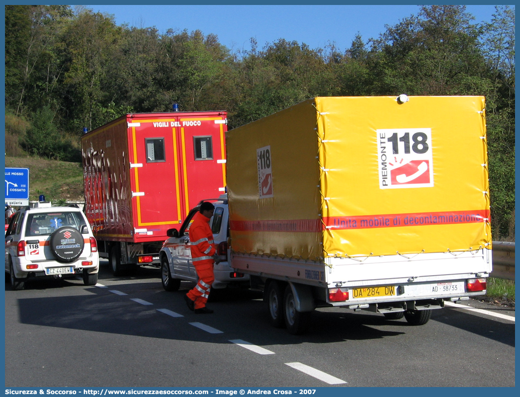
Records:
[[[131,117],[134,227],[138,239],[152,241],[182,223],[191,206],[224,190],[226,116],[194,112]]]

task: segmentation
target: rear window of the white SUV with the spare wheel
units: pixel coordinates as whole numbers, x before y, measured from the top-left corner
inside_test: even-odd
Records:
[[[52,234],[62,226],[70,226],[81,232],[85,220],[78,212],[55,212],[47,214],[29,214],[25,226],[26,236]]]

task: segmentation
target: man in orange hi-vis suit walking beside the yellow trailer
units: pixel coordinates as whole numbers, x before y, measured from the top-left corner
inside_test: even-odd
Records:
[[[206,308],[207,298],[210,295],[211,284],[215,280],[213,264],[218,261],[213,232],[210,228],[210,218],[215,206],[209,202],[200,205],[199,212],[193,217],[193,223],[188,231],[191,242],[191,260],[199,276],[199,282],[191,289],[184,299],[188,308],[197,314],[213,313]]]

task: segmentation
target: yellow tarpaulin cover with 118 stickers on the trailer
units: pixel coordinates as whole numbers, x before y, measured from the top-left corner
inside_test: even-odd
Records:
[[[309,99],[227,135],[233,250],[491,247],[484,97]]]

